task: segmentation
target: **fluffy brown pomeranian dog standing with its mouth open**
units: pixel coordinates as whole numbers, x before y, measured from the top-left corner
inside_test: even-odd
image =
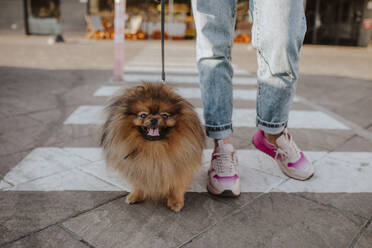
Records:
[[[180,211],[200,168],[205,135],[193,106],[164,84],[125,90],[106,108],[106,163],[132,186],[127,203],[167,198]]]

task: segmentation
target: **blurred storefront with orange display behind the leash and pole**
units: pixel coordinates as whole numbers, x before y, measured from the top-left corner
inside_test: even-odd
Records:
[[[127,0],[126,39],[160,38],[160,5],[154,0]],[[239,1],[236,42],[250,42],[251,23],[248,1]],[[169,0],[165,5],[165,37],[174,40],[194,39],[195,25],[191,0]],[[89,0],[88,37],[113,38],[114,0]]]

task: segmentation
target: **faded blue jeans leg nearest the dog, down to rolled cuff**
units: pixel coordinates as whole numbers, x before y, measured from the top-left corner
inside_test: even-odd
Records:
[[[236,1],[193,0],[197,65],[207,136],[225,139],[232,133],[231,49]]]

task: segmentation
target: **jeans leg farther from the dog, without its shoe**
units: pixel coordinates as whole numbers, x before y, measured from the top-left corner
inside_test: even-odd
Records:
[[[301,0],[251,0],[252,44],[257,50],[257,127],[278,134],[288,122],[298,60],[306,32]]]

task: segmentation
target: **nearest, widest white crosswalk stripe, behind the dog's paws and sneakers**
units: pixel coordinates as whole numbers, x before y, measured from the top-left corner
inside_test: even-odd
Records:
[[[204,151],[201,171],[189,191],[205,192],[211,150]],[[306,182],[287,179],[276,162],[258,150],[238,150],[242,192],[372,192],[372,153],[305,152],[317,173]],[[130,190],[106,169],[100,148],[43,147],[33,150],[0,182],[3,190],[60,191]]]

